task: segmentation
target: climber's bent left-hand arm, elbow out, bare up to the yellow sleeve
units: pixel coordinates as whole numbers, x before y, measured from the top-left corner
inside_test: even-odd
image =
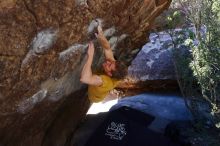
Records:
[[[90,42],[87,51],[87,61],[82,69],[80,81],[88,85],[100,86],[102,85],[102,79],[98,75],[93,74],[91,68],[94,50],[94,44]]]

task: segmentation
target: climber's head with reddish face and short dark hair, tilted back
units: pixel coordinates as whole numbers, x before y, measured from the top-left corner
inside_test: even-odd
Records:
[[[105,73],[115,79],[123,79],[127,75],[127,66],[121,61],[106,60],[103,63]]]

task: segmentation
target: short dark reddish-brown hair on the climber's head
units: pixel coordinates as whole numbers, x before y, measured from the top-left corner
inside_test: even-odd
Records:
[[[122,61],[115,62],[115,70],[111,72],[112,78],[121,80],[128,74],[128,68]]]

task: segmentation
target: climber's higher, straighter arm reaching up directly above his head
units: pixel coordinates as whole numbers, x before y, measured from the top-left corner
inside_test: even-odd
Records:
[[[102,31],[101,26],[98,26],[97,29],[98,29],[98,33],[96,34],[96,37],[99,40],[101,46],[104,48],[105,58],[107,60],[115,61],[115,58],[114,58],[114,55],[113,55],[113,52],[112,52],[112,48],[111,48],[108,40],[104,36],[104,33]]]

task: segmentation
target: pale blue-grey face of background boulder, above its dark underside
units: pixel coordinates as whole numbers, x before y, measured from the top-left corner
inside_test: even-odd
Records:
[[[176,80],[172,58],[172,39],[166,32],[151,33],[129,67],[129,75],[140,81]]]

